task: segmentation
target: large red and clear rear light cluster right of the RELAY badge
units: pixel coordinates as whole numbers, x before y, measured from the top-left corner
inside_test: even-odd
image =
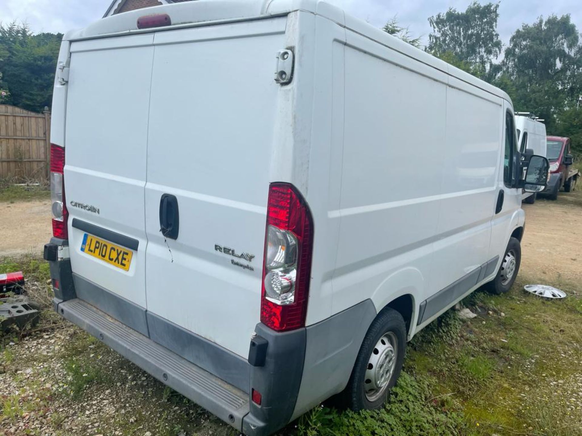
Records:
[[[305,325],[311,274],[313,220],[290,184],[269,187],[261,322],[277,331]]]

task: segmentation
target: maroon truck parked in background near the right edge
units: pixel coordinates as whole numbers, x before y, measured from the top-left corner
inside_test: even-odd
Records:
[[[574,190],[580,171],[572,167],[574,158],[570,154],[570,138],[548,136],[547,144],[546,158],[549,160],[550,175],[548,187],[545,188],[543,194],[555,200],[558,198],[560,188],[564,187],[566,192]]]

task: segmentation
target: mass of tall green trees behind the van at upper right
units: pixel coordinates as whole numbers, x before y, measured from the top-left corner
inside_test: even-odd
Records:
[[[496,31],[499,3],[474,2],[428,19],[427,51],[509,94],[519,112],[545,120],[548,135],[572,138],[582,152],[582,45],[570,15],[540,17],[510,39],[502,62]]]

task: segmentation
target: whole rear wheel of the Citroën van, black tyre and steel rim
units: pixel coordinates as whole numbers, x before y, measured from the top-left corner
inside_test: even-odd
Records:
[[[405,351],[404,319],[385,308],[368,328],[350,381],[339,395],[340,405],[356,412],[381,408],[400,376]]]

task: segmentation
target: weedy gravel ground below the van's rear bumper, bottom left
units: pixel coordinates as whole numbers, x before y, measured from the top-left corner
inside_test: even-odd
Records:
[[[47,330],[5,348],[0,435],[237,434],[76,327]]]

